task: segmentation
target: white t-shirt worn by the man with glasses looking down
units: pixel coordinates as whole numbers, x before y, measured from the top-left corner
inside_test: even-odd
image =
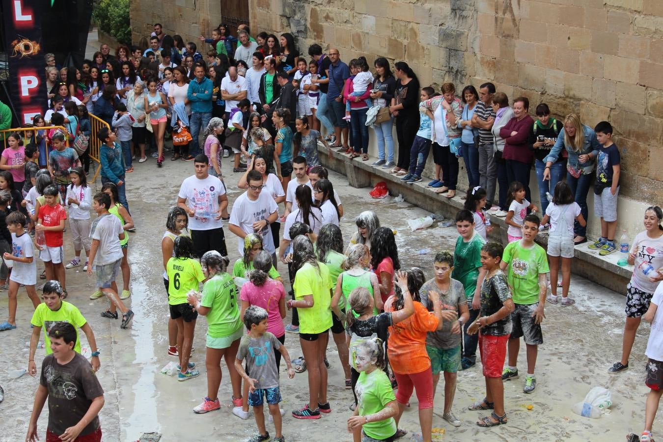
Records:
[[[272,198],[272,195],[266,192],[260,192],[258,199],[252,201],[247,192],[242,193],[235,199],[233,210],[230,213],[230,223],[239,226],[245,233],[257,233],[263,237],[263,250],[270,254],[274,253],[274,241],[272,241],[272,229],[269,225],[259,232],[253,230],[253,223],[267,219],[269,215],[278,211],[278,205]],[[239,255],[244,254],[244,239],[237,239],[237,250]]]

